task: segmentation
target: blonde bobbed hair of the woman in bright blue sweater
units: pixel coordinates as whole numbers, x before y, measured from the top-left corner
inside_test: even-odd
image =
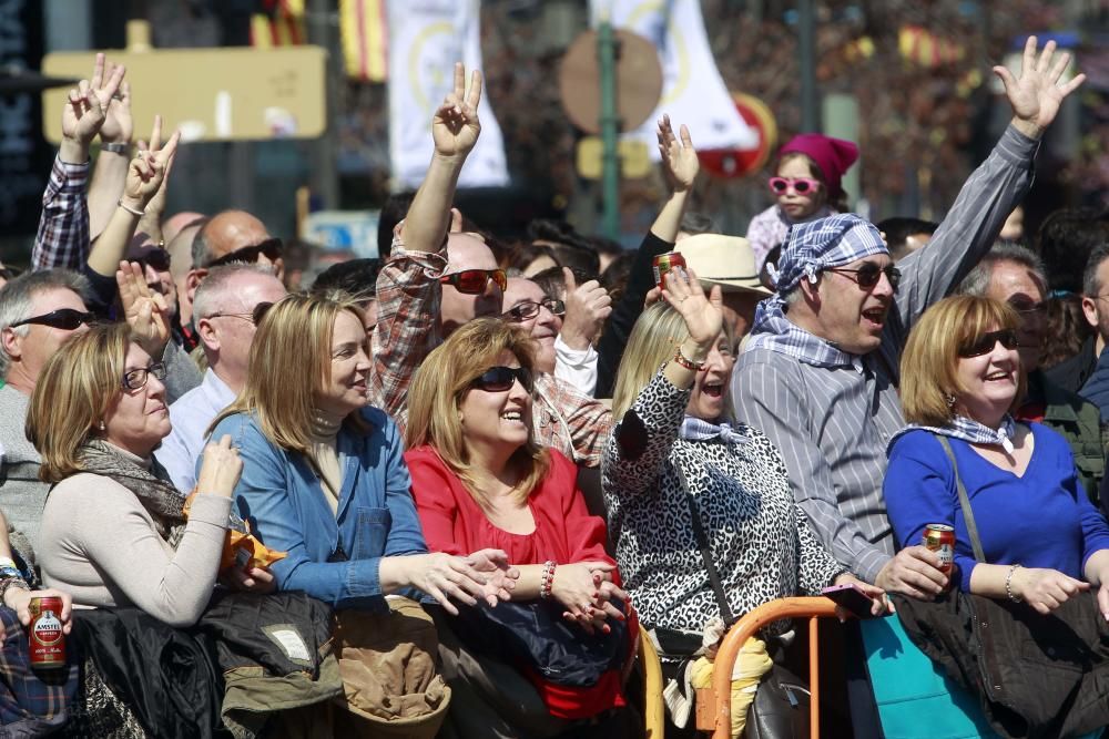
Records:
[[[950,398],[967,391],[959,382],[959,349],[988,331],[1016,330],[1020,316],[990,298],[959,295],[944,298],[920,316],[908,336],[901,361],[901,398],[905,420],[943,427],[955,418]],[[1025,368],[1018,369],[1011,412],[1025,396]]]

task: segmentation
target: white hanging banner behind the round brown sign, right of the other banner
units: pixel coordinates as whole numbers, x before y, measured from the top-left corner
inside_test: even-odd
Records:
[[[759,146],[759,133],[735,110],[716,69],[700,0],[590,0],[589,11],[593,28],[607,12],[613,27],[638,33],[659,50],[662,99],[642,126],[625,134],[643,141],[654,161],[657,122],[663,113],[670,114],[675,131],[681,123],[690,127],[699,150]]]

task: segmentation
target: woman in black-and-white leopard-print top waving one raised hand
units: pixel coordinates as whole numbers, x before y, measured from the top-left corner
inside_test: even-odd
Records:
[[[663,297],[629,338],[612,399],[620,423],[601,471],[624,587],[644,627],[660,635],[664,673],[675,675],[702,642],[713,645],[729,616],[774,598],[855,583],[881,612],[882,591],[846,572],[810,528],[774,444],[731,418],[735,349],[722,324],[720,288],[706,296],[693,273],[679,270],[667,275]],[[770,660],[761,645],[752,650],[762,655],[751,661],[757,682]],[[750,701],[752,694],[743,695]],[[733,711],[733,733],[742,718],[743,710]]]

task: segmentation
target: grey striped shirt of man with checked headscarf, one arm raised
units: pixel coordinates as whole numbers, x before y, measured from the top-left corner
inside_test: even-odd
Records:
[[[1032,181],[1038,142],[1011,126],[963,186],[930,243],[897,266],[901,288],[882,346],[854,367],[814,367],[772,349],[744,352],[732,377],[736,418],[782,451],[793,493],[824,544],[874,582],[894,554],[882,480],[886,447],[905,425],[902,348],[916,319],[989,250]]]

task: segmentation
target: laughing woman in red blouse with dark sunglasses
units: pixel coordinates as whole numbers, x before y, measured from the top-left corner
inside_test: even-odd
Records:
[[[621,736],[619,727],[629,719],[621,710],[619,661],[631,654],[627,646],[637,626],[625,619],[628,596],[615,562],[604,552],[604,522],[587,511],[576,484],[577,466],[533,439],[532,371],[530,339],[492,318],[470,321],[431,352],[409,393],[410,451],[405,459],[413,495],[433,552],[495,546],[519,568],[511,602],[497,614],[485,614],[498,622],[490,629],[505,628],[501,612],[515,607],[527,609],[531,624],[553,619],[542,634],[531,635],[540,643],[562,639],[602,651],[606,645],[619,647],[610,648],[613,664],[591,685],[560,679],[542,657],[529,660],[516,654],[511,661],[550,716],[566,723],[567,736],[594,730],[597,736]],[[569,633],[564,624],[572,625]],[[519,629],[508,627],[500,636],[508,639],[513,630]],[[490,656],[468,642],[465,630],[459,638]],[[543,649],[540,645],[532,651]]]

